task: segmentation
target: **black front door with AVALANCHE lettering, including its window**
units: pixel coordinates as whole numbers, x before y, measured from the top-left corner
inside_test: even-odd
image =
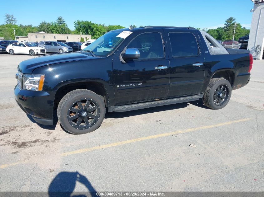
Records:
[[[169,60],[165,57],[163,31],[137,35],[126,46],[137,48],[140,58],[120,60],[113,57],[113,81],[116,105],[153,101],[167,97],[169,89]],[[125,49],[121,53],[124,53]],[[122,50],[122,49],[121,49]]]

